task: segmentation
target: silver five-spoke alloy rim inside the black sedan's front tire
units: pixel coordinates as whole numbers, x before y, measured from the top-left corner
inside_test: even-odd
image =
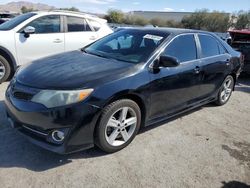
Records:
[[[135,111],[130,107],[120,108],[108,120],[105,128],[106,141],[111,146],[125,144],[132,137],[136,124]]]

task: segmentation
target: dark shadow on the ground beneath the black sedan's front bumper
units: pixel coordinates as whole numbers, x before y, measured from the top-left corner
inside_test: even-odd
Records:
[[[29,143],[16,130],[9,127],[3,101],[0,101],[0,168],[26,168],[32,171],[46,171],[74,159],[105,156],[97,148],[69,155],[58,155]]]

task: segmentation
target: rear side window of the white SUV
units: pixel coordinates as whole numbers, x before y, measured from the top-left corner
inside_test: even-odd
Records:
[[[68,32],[92,31],[84,18],[67,16]]]

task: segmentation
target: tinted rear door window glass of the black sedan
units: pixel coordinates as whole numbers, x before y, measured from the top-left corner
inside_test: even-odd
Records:
[[[219,55],[219,47],[215,38],[208,35],[199,35],[202,57]]]

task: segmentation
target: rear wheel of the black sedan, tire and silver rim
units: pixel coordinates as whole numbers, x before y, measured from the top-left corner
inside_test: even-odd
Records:
[[[218,106],[226,104],[232,95],[233,88],[234,78],[231,75],[228,75],[219,90],[218,98],[215,101],[215,104]]]

